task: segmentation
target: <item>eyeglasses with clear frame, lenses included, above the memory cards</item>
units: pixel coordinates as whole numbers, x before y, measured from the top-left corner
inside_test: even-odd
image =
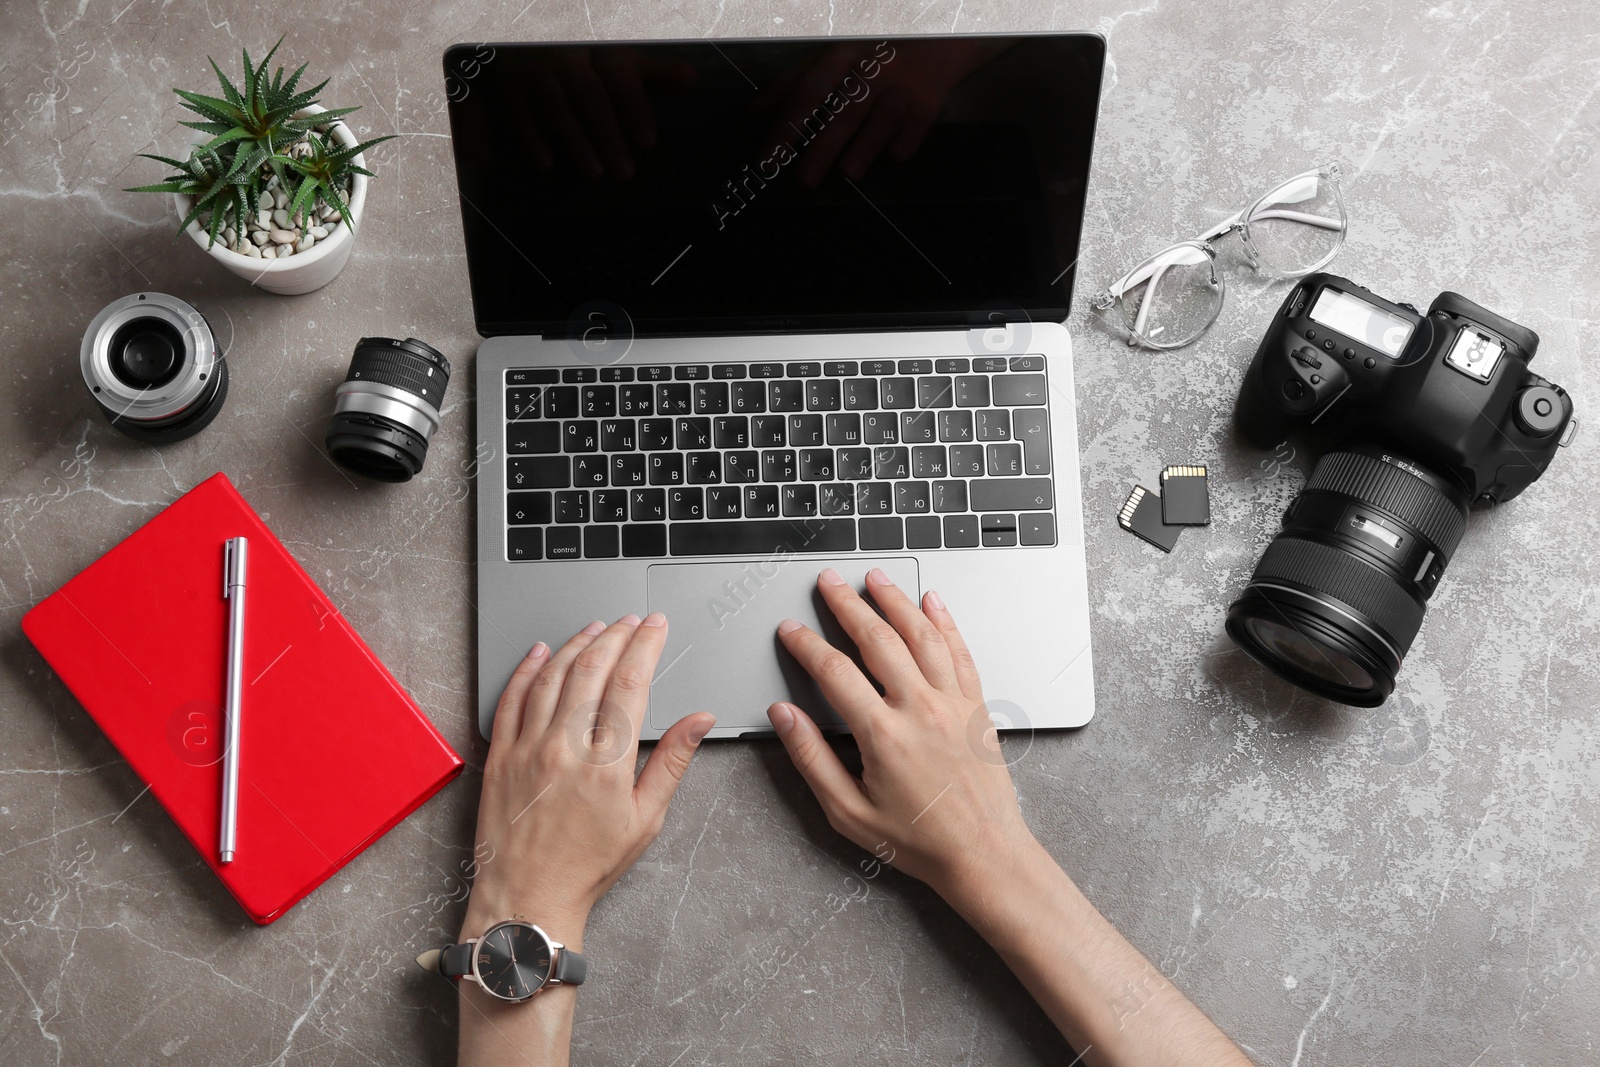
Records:
[[[1237,232],[1258,272],[1299,278],[1328,266],[1349,229],[1339,165],[1330,163],[1274,186],[1192,242],[1150,256],[1091,302],[1122,310],[1128,344],[1181,349],[1216,322],[1226,285],[1213,242]]]

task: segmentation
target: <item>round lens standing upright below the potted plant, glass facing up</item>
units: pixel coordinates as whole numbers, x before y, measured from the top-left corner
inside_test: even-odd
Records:
[[[227,400],[227,363],[210,323],[165,293],[107,304],[83,331],[78,365],[106,419],[154,445],[194,437]]]

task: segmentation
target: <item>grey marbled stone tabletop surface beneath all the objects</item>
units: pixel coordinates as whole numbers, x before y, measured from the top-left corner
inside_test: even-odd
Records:
[[[482,38],[1093,29],[1110,42],[1083,240],[1077,390],[1099,713],[1014,768],[1040,838],[1264,1064],[1592,1064],[1600,1041],[1597,435],[1472,517],[1400,688],[1296,693],[1222,613],[1306,470],[1229,424],[1280,285],[1242,277],[1211,333],[1150,355],[1088,290],[1246,202],[1344,165],[1341,272],[1454,288],[1542,338],[1584,418],[1600,346],[1600,10],[1437,5],[267,5],[43,0],[0,13],[0,1062],[448,1061],[454,1001],[411,963],[454,931],[485,747],[474,728],[470,376],[427,472],[355,485],[317,442],[363,334],[466,363],[475,334],[438,56]],[[302,298],[210,264],[139,150],[203,88],[285,58],[400,133],[349,269]],[[110,432],[78,338],[128,291],[187,296],[234,373],[224,416],[154,450]],[[1213,523],[1162,555],[1117,530],[1134,482],[1206,462]],[[22,613],[226,470],[472,765],[304,905],[253,926],[22,637]],[[1016,625],[1032,621],[1018,619]],[[530,640],[534,635],[530,635]],[[544,635],[550,637],[550,635]],[[717,744],[589,929],[576,1062],[1064,1064],[1064,1041],[922,885],[858,886],[774,744]]]

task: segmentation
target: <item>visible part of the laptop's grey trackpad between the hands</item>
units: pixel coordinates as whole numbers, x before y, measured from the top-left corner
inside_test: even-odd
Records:
[[[858,592],[866,589],[867,571],[880,566],[907,597],[922,597],[917,560],[904,555],[651,566],[650,609],[667,616],[669,630],[650,688],[650,725],[661,731],[691,712],[712,712],[718,731],[771,729],[766,709],[774,701],[792,701],[819,723],[838,723],[810,675],[778,643],[778,624],[797,619],[856,654],[816,592],[824,566],[854,582]]]

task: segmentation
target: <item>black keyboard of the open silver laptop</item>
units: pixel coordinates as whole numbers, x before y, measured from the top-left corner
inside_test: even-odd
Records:
[[[506,371],[506,555],[1053,545],[1042,355]]]

